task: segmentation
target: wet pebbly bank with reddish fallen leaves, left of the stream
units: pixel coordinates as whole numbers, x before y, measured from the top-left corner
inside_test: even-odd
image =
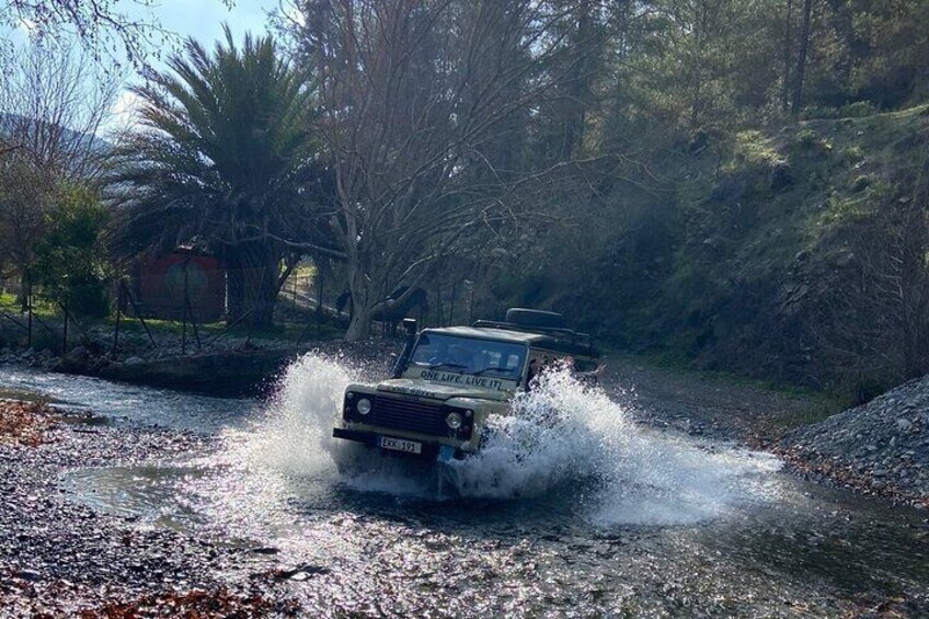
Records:
[[[54,416],[41,442],[0,437],[0,616],[153,617],[175,608],[192,618],[273,617],[297,610],[273,560],[246,545],[134,526],[64,494],[60,480],[69,470],[183,460],[206,454],[211,439],[92,425],[85,416],[46,411]]]

